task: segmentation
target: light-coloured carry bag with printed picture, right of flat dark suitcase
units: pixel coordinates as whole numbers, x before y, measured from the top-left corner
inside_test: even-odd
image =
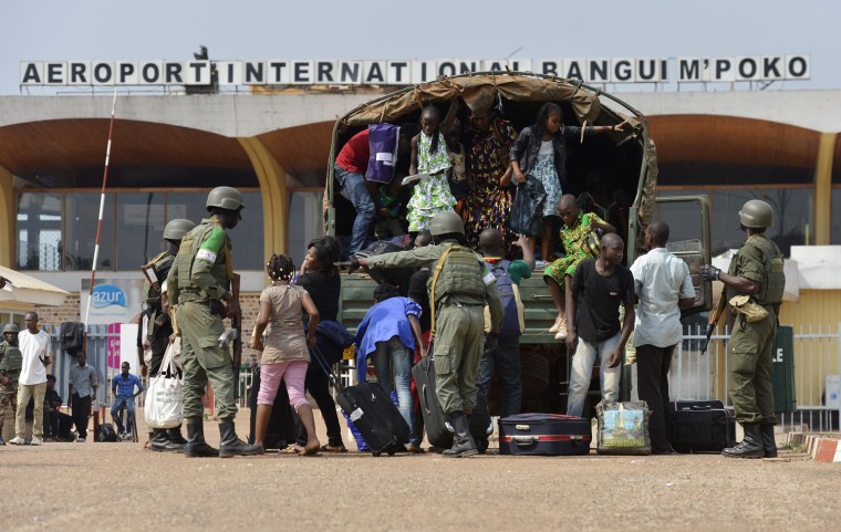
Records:
[[[602,400],[595,406],[595,414],[599,418],[598,453],[651,455],[650,411],[644,400]]]

